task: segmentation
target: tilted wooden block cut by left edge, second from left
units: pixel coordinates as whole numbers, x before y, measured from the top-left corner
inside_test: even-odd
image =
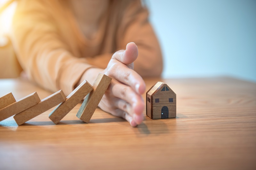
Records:
[[[40,102],[37,93],[32,93],[14,102],[0,110],[0,121],[7,119],[15,114],[18,114]]]

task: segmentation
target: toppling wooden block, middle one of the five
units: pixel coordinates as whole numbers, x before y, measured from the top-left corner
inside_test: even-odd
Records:
[[[44,113],[45,111],[51,109],[52,107],[64,102],[66,100],[66,96],[62,90],[57,91],[56,93],[52,94],[41,100],[35,106],[24,110],[18,114],[16,114],[13,118],[18,125],[24,124],[25,122],[29,121],[30,119]]]

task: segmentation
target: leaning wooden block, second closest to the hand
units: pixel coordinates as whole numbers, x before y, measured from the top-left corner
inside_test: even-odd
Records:
[[[92,91],[92,85],[84,80],[72,93],[70,93],[65,102],[60,103],[49,115],[53,123],[57,124],[72,110],[83,98]]]

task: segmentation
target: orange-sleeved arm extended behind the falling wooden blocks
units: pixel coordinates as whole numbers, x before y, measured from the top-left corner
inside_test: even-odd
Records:
[[[12,43],[31,81],[68,95],[88,68],[86,59],[74,57],[70,46],[41,1],[19,1],[12,25]]]

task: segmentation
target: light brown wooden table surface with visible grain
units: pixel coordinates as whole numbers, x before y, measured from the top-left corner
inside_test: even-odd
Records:
[[[256,169],[256,84],[229,77],[145,79],[177,94],[177,117],[145,120],[136,128],[99,108],[89,124],[76,117],[60,124],[51,110],[17,126],[0,122],[0,169]],[[37,92],[25,80],[0,80],[0,96],[16,100]],[[144,95],[145,96],[145,95]]]

